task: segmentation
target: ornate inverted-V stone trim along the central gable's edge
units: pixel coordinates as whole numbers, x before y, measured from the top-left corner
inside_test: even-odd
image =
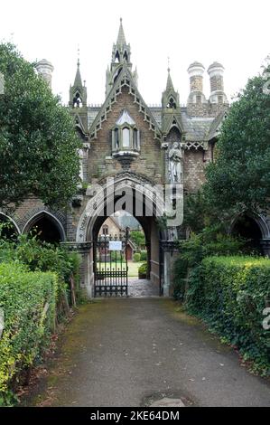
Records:
[[[122,93],[123,87],[127,87],[129,94],[134,97],[135,103],[139,106],[139,112],[144,115],[144,121],[149,123],[149,129],[154,132],[154,138],[161,140],[161,129],[151,110],[144,102],[139,90],[136,88],[132,73],[125,64],[119,72],[112,89],[107,95],[107,99],[98,112],[97,117],[94,119],[91,127],[89,128],[90,139],[96,139],[98,137],[98,131],[102,128],[102,123],[107,120],[107,115],[113,109],[113,105],[116,103],[116,98]]]

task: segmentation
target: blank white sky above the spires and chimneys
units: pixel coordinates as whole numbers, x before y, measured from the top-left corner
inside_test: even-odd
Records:
[[[52,90],[69,100],[79,44],[88,103],[105,96],[105,72],[123,18],[126,42],[147,103],[161,103],[170,56],[181,103],[189,94],[187,68],[212,61],[226,68],[229,99],[260,71],[270,52],[269,0],[8,0],[0,4],[0,41],[17,44],[25,59],[54,66]],[[204,92],[209,95],[205,72]]]

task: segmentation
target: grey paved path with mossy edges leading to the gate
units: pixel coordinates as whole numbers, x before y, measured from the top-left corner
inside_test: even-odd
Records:
[[[269,383],[171,299],[100,299],[80,307],[60,353],[28,397],[41,406],[270,406]]]

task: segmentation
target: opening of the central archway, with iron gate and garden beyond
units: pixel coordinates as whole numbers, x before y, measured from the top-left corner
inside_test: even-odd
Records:
[[[105,218],[94,241],[95,296],[159,296],[160,279],[151,281],[151,245],[151,232],[145,235],[130,213]]]

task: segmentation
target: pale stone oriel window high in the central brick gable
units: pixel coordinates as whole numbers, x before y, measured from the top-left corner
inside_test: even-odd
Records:
[[[140,150],[140,132],[135,120],[123,109],[112,130],[113,156],[138,156]]]

